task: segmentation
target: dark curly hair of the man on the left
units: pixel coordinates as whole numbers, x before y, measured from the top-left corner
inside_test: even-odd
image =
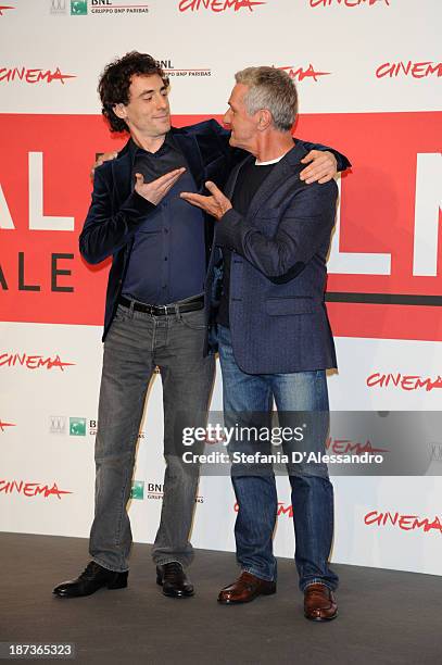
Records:
[[[160,63],[152,55],[138,51],[130,51],[104,67],[98,84],[98,91],[102,103],[101,112],[109,121],[111,131],[128,131],[125,121],[115,115],[113,108],[115,104],[129,102],[131,77],[154,74],[161,76],[164,85],[168,87],[168,77]]]

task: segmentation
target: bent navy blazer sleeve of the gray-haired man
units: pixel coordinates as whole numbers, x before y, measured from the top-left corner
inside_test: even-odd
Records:
[[[231,209],[216,224],[215,242],[247,259],[270,281],[290,281],[321,248],[323,251],[328,248],[337,197],[334,180],[301,187],[277,223],[271,238]],[[269,209],[261,214],[269,218],[280,213],[277,209]],[[275,227],[275,219],[271,226]]]

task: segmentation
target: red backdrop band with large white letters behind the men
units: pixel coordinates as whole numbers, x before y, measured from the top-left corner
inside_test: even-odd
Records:
[[[438,276],[413,276],[416,155],[440,150],[434,137],[441,135],[441,118],[431,112],[299,118],[296,136],[333,146],[353,164],[342,178],[340,250],[391,254],[391,275],[332,274],[329,291],[442,293],[441,239]],[[15,226],[0,229],[1,319],[100,325],[109,262],[88,266],[78,253],[78,235],[90,202],[94,153],[118,149],[125,139],[110,135],[96,115],[3,114],[1,120],[0,184]],[[174,124],[201,120],[175,116]],[[29,230],[29,152],[43,153],[43,214],[73,216],[75,231]],[[54,277],[54,254],[73,254],[56,259],[56,268],[70,274]],[[73,290],[54,290],[54,279],[56,288]],[[439,306],[332,302],[328,309],[338,336],[442,339]]]

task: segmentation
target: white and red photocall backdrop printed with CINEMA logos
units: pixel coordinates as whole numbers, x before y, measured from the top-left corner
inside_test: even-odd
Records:
[[[78,235],[94,155],[124,140],[101,118],[98,77],[129,50],[169,74],[176,126],[220,120],[240,68],[290,74],[295,135],[353,164],[328,265],[331,409],[441,409],[441,20],[440,0],[0,0],[1,530],[89,532],[109,263],[88,266]],[[213,410],[220,388],[218,371]],[[141,542],[162,504],[162,417],[156,377],[130,502]],[[441,574],[433,443],[434,475],[333,479],[332,561]],[[328,446],[382,448],[363,431]],[[278,490],[275,551],[292,556],[287,478]],[[193,544],[232,551],[235,515],[229,478],[202,477]]]

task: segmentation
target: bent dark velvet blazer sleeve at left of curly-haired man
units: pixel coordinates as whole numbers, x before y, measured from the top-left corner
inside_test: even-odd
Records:
[[[108,174],[101,168],[94,173],[92,202],[79,237],[79,251],[88,263],[100,263],[127,244],[156,208],[134,191],[115,212]]]

